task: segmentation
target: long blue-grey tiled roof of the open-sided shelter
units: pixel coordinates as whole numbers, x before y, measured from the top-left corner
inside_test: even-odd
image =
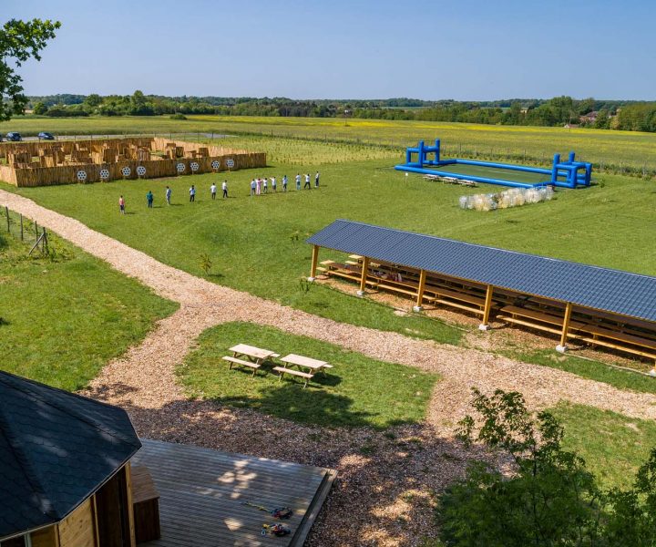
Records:
[[[656,277],[338,220],[307,240],[518,293],[656,321]]]

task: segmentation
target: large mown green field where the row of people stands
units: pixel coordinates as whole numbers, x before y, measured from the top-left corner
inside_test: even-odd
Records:
[[[583,263],[656,274],[649,242],[656,225],[644,222],[656,208],[649,182],[636,178],[600,177],[585,190],[559,191],[556,199],[497,212],[463,211],[457,198],[466,193],[498,191],[497,186],[466,189],[405,177],[390,160],[339,163],[354,147],[297,139],[233,137],[232,146],[257,144],[278,150],[292,161],[270,160],[263,170],[221,174],[228,178],[231,199],[212,202],[216,175],[169,180],[113,181],[94,185],[15,189],[26,197],[75,217],[91,228],[149,253],[191,274],[203,275],[200,256],[212,262],[209,279],[258,294],[343,323],[367,325],[405,335],[457,344],[462,332],[416,315],[396,315],[380,304],[311,285],[303,291],[300,279],[309,273],[311,249],[303,243],[313,232],[337,218],[432,233],[458,240],[506,247]],[[305,159],[304,162],[298,160]],[[249,181],[257,175],[322,172],[319,191],[295,191],[250,198]],[[199,188],[197,202],[188,202],[191,183]],[[173,206],[164,207],[164,188],[173,189]],[[293,182],[291,188],[293,189]],[[146,208],[145,194],[155,193],[155,209]],[[118,214],[118,196],[128,201],[128,214]],[[600,252],[601,251],[601,252]],[[323,251],[321,259],[337,257]],[[353,287],[353,290],[355,287]],[[408,303],[408,308],[410,303]],[[538,362],[544,359],[536,359]],[[590,374],[606,381],[606,367]],[[606,379],[605,379],[606,378]]]

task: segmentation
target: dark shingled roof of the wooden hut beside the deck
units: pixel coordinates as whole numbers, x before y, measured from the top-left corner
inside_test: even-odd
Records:
[[[61,521],[140,447],[125,410],[0,371],[0,539]]]

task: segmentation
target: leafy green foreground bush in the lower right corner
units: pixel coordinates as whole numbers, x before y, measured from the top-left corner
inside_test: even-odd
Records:
[[[600,490],[585,461],[561,447],[548,412],[533,417],[517,392],[475,390],[458,438],[510,455],[506,475],[477,462],[441,496],[441,539],[454,547],[656,545],[656,449],[631,490]],[[509,476],[508,476],[509,475]]]

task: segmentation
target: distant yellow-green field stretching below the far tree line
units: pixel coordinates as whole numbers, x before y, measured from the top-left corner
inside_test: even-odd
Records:
[[[191,116],[51,119],[17,118],[0,124],[0,133],[17,130],[36,135],[93,133],[250,133],[302,139],[344,140],[392,147],[402,159],[406,146],[419,139],[442,139],[446,156],[530,160],[548,164],[555,152],[575,150],[582,160],[614,170],[656,171],[656,133],[601,129],[491,126],[450,122],[374,119],[264,118]]]

